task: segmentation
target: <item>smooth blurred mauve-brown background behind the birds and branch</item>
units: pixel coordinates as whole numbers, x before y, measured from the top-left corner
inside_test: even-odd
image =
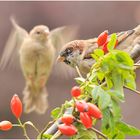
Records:
[[[18,23],[30,31],[33,26],[44,24],[50,29],[58,26],[79,25],[79,39],[92,38],[108,29],[110,33],[129,30],[140,24],[140,2],[0,2],[0,55],[11,31],[9,17],[14,15]],[[137,89],[140,90],[140,74],[137,71]],[[73,78],[63,79],[50,76],[47,83],[49,109],[44,115],[23,114],[22,120],[31,120],[40,130],[51,120],[50,112],[69,100],[70,89],[75,85]],[[20,70],[0,71],[0,121],[16,123],[10,110],[13,94],[22,98],[25,81]],[[140,96],[125,92],[126,102],[122,104],[123,120],[140,128]],[[36,138],[36,132],[28,127],[28,134]],[[24,138],[21,129],[0,131],[1,139]],[[134,137],[133,137],[134,138]],[[140,138],[140,136],[135,137]]]

